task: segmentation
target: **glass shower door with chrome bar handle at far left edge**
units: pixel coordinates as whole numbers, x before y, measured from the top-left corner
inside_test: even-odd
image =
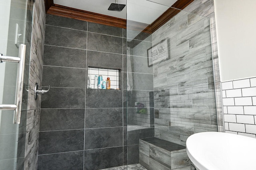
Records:
[[[2,56],[2,62],[0,62],[0,105],[2,105],[0,109],[0,170],[24,169],[28,101],[28,86],[24,84],[28,84],[33,4],[31,0],[0,1],[0,55]],[[19,53],[21,54],[23,50],[25,54],[26,49],[28,53],[25,61],[19,58]],[[10,62],[3,59],[5,56],[14,57],[19,61]],[[22,65],[24,76],[19,74]],[[19,77],[24,77],[24,80]],[[17,86],[17,79],[24,82],[24,84],[20,83],[21,88]],[[22,88],[19,104],[16,89]],[[20,122],[14,123],[14,112],[17,110],[8,110],[4,107],[18,105],[22,106],[17,107],[21,110],[21,119]]]

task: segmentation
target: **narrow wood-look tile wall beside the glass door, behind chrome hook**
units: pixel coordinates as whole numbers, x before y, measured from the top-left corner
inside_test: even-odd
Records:
[[[44,32],[46,20],[44,9],[44,1],[36,0],[34,2],[31,51],[30,48],[27,48],[27,51],[30,51],[30,71],[28,82],[28,113],[24,161],[25,170],[37,169],[41,96],[39,95],[37,100],[34,99],[34,87],[36,82],[38,83],[39,88],[41,88],[42,84]]]

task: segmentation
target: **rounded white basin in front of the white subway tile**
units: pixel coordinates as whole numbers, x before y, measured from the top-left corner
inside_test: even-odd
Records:
[[[197,170],[256,170],[256,139],[222,132],[188,137],[187,154]]]

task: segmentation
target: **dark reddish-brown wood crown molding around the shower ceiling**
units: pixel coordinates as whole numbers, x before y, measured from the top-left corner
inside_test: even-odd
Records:
[[[94,23],[100,23],[104,25],[120,27],[124,29],[133,29],[137,31],[142,31],[143,33],[139,34],[135,39],[143,40],[148,35],[156,31],[172,17],[183,10],[194,0],[178,0],[176,1],[171,8],[166,10],[158,19],[156,19],[150,25],[145,23],[139,23],[136,21],[126,21],[125,19],[116,18],[112,16],[106,16],[102,14],[97,14],[94,12],[88,12],[84,10],[78,10],[75,8],[70,8],[66,6],[61,6],[53,3],[53,0],[44,0],[46,14],[52,14],[56,16],[62,16],[66,18],[72,18],[76,20],[89,21]],[[177,8],[177,9],[175,9]],[[128,23],[128,24],[127,24]],[[126,27],[126,24],[128,27]]]

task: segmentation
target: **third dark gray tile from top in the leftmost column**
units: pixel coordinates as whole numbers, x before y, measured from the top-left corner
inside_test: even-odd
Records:
[[[86,68],[86,50],[45,45],[44,65]]]

